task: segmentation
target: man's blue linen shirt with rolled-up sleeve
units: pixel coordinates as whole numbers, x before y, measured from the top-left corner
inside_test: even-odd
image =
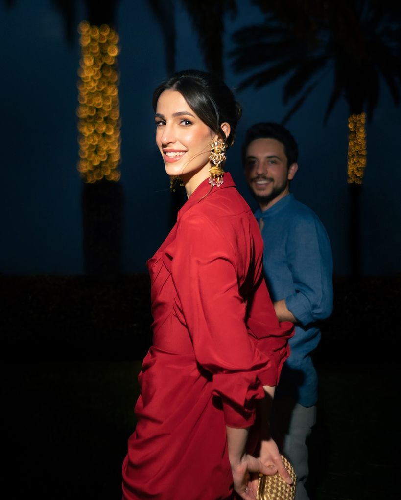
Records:
[[[289,193],[265,211],[263,266],[273,301],[285,299],[297,318],[275,397],[294,397],[303,406],[317,401],[317,373],[311,353],[320,340],[318,321],[333,306],[332,254],[326,230],[317,215]]]

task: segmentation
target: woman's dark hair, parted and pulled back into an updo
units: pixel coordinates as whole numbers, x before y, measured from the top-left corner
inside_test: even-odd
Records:
[[[226,138],[229,146],[234,143],[235,127],[242,109],[228,86],[213,74],[197,69],[186,69],[174,73],[161,83],[153,93],[153,108],[164,90],[177,90],[188,102],[191,109],[214,132],[225,137],[221,124],[230,124],[230,135]]]

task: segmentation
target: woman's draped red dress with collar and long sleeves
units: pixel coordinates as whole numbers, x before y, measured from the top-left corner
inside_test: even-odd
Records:
[[[123,464],[126,500],[233,498],[225,425],[253,423],[255,398],[289,354],[292,323],[274,313],[256,219],[230,174],[209,189],[197,187],[148,260],[153,345]]]

